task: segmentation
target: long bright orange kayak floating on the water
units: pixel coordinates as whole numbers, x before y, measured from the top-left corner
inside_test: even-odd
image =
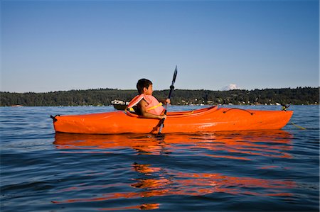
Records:
[[[278,130],[293,111],[259,111],[211,106],[194,111],[168,112],[161,133],[206,133],[225,130]],[[159,119],[129,111],[55,116],[56,132],[85,134],[158,133]]]

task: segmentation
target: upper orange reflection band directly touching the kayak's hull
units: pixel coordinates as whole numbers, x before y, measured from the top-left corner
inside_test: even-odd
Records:
[[[292,157],[287,150],[292,149],[292,135],[283,130],[253,131],[242,133],[214,134],[167,134],[156,135],[85,135],[56,133],[54,144],[58,149],[91,150],[81,153],[106,153],[116,149],[132,148],[140,155],[175,154],[186,150],[193,155],[203,154],[192,150],[209,150],[210,157],[225,157],[236,160],[251,160],[252,155],[265,157]],[[101,151],[99,151],[101,152]],[[198,153],[197,153],[198,152]],[[68,152],[70,153],[70,152]],[[241,156],[233,156],[241,155]]]

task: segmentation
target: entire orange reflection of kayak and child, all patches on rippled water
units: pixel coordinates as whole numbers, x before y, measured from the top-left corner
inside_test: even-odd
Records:
[[[55,147],[62,153],[116,153],[117,150],[132,150],[139,155],[168,155],[170,157],[201,157],[235,162],[255,162],[258,158],[292,158],[292,135],[283,130],[255,131],[241,133],[207,134],[166,134],[155,135],[73,135],[57,133]],[[258,164],[257,164],[258,165]],[[139,177],[130,179],[132,183],[95,185],[102,187],[127,187],[129,191],[117,191],[100,194],[92,198],[70,198],[53,203],[74,203],[107,201],[111,199],[140,199],[159,196],[203,196],[222,192],[235,195],[254,196],[292,196],[289,192],[296,186],[292,180],[267,179],[261,175],[235,176],[219,172],[187,172],[183,169],[170,168],[146,163],[129,163],[129,170]],[[277,168],[277,165],[255,167],[255,171]],[[258,177],[260,176],[260,177]],[[79,185],[59,192],[85,191],[87,186]],[[92,186],[90,189],[95,189]],[[114,189],[112,191],[115,191]],[[139,201],[140,201],[139,200]],[[101,210],[156,209],[159,203],[140,203],[135,206],[101,208]]]

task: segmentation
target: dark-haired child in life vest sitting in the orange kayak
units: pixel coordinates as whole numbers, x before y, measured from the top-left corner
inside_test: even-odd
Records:
[[[170,99],[166,99],[161,103],[152,96],[152,82],[149,79],[139,79],[137,82],[137,89],[139,95],[130,101],[127,108],[134,107],[134,111],[145,118],[166,118],[162,103],[170,104]]]

